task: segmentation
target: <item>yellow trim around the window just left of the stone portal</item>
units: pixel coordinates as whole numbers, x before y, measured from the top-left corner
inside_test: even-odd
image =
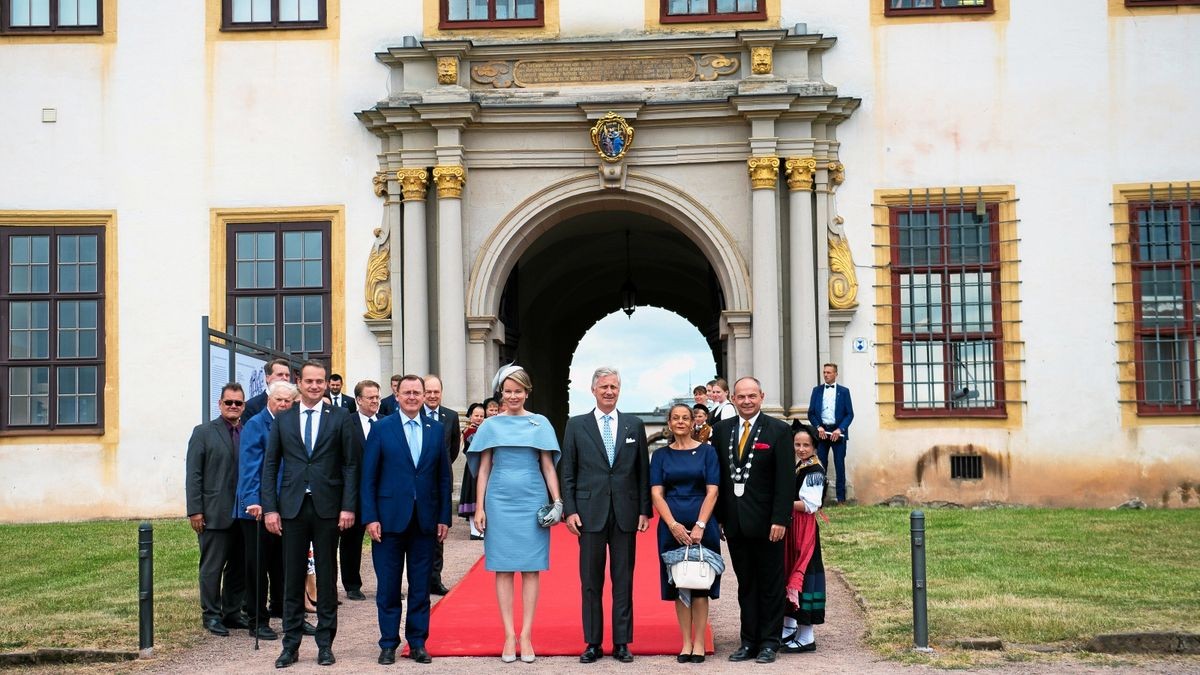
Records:
[[[256,207],[211,209],[209,251],[209,325],[224,330],[226,323],[226,232],[232,223],[329,221],[329,321],[330,372],[346,370],[346,207]]]

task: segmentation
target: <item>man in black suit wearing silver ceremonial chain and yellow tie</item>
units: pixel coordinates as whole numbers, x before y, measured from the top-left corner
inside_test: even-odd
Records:
[[[784,534],[792,520],[796,464],[792,430],[762,414],[762,386],[733,384],[738,414],[713,425],[721,465],[718,521],[738,575],[742,646],[730,661],[773,663],[784,629]]]

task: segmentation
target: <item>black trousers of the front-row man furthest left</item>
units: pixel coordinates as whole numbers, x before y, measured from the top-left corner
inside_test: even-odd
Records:
[[[308,543],[317,566],[317,646],[334,645],[337,635],[337,519],[319,518],[312,497],[300,513],[283,520],[283,646],[299,649],[304,637],[304,585],[308,578]]]

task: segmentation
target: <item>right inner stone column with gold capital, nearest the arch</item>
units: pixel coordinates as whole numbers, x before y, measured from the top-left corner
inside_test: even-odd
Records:
[[[750,283],[754,287],[754,375],[762,382],[763,410],[770,414],[782,414],[781,372],[784,369],[782,338],[779,321],[779,213],[776,186],[779,185],[779,157],[757,156],[746,160],[751,189],[751,240]]]

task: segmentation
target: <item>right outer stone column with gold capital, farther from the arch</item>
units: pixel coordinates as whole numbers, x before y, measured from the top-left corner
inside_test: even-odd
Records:
[[[790,318],[787,327],[791,348],[791,406],[788,414],[808,407],[810,388],[820,381],[821,359],[817,348],[816,247],[812,243],[812,174],[817,161],[812,157],[791,157],[787,169],[787,208],[791,223],[788,239]]]

